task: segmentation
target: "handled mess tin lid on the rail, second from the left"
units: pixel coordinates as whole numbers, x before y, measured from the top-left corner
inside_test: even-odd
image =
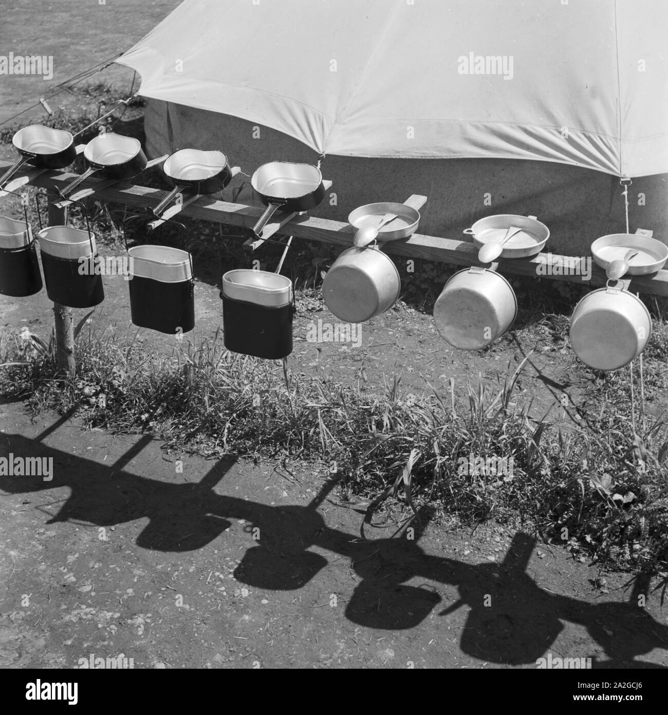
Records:
[[[95,172],[101,172],[106,179],[126,181],[146,168],[146,155],[139,139],[113,132],[105,132],[91,139],[84,148],[84,159],[88,169],[64,189],[59,189],[61,197],[67,197]]]

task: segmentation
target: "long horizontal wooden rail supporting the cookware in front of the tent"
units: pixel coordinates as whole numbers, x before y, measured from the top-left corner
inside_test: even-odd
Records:
[[[0,174],[10,165],[9,162],[0,162]],[[17,176],[20,177],[21,172]],[[44,189],[61,188],[76,176],[77,174],[71,172],[43,172],[35,175],[33,171],[29,183]],[[138,208],[156,206],[167,194],[160,189],[137,186],[127,182],[116,182],[109,186],[100,179],[88,179],[84,185],[94,189],[96,199]],[[196,219],[250,229],[256,224],[263,210],[263,208],[246,206],[246,204],[232,204],[209,197],[201,197],[188,206],[184,206],[180,213],[183,216]],[[294,217],[281,229],[281,232],[311,241],[349,247],[352,245],[355,230],[348,223],[303,215]],[[477,248],[472,242],[460,238],[426,236],[416,233],[406,240],[385,243],[383,250],[392,255],[405,256],[407,260],[422,258],[461,266],[480,265],[477,260]],[[581,275],[559,275],[556,272],[559,267],[564,265],[564,262],[577,262],[582,258],[584,256],[568,257],[540,253],[530,259],[504,259],[499,260],[499,272],[527,276],[541,275],[549,280],[582,283],[586,281],[582,280]],[[542,270],[539,273],[539,263],[544,263],[547,270]],[[592,261],[592,278],[588,284],[598,287],[605,285],[605,282],[604,270]],[[660,270],[648,276],[632,277],[629,290],[668,296],[668,270]]]

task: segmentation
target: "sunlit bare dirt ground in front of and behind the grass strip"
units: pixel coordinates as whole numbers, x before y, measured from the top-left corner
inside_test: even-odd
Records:
[[[184,339],[195,345],[220,325],[215,273],[196,282],[196,330]],[[125,282],[104,283],[96,325],[133,335]],[[535,347],[455,354],[406,306],[364,325],[360,347],[311,343],[309,323],[335,319],[317,300],[299,308],[290,369],[369,390],[394,373],[407,390],[451,376],[461,390]],[[51,327],[44,291],[1,297],[0,315],[9,329]],[[175,342],[143,329],[138,339]],[[577,403],[569,355],[531,359],[522,390],[541,410],[562,392]],[[3,455],[54,458],[49,482],[0,477],[0,666],[72,668],[90,654],[124,654],[136,668],[535,668],[547,654],[668,666],[658,593],[639,608],[628,576],[597,581],[597,568],[526,534],[429,525],[419,541],[391,538],[394,528],[362,540],[366,505],[321,494],[326,474],[303,465],[168,455],[149,437],[0,409]]]

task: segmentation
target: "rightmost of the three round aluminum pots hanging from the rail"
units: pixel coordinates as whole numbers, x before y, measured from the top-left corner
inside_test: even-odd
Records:
[[[580,300],[569,332],[577,357],[590,368],[606,371],[623,368],[637,358],[650,335],[652,318],[642,300],[610,285]]]

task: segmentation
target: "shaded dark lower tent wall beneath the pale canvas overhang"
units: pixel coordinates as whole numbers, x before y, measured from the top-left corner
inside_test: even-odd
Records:
[[[318,155],[297,139],[246,119],[149,99],[146,141],[156,157],[176,149],[220,149],[233,164],[252,174],[270,161],[311,162]],[[546,250],[588,255],[589,244],[608,233],[624,232],[624,201],[619,179],[592,169],[521,159],[372,159],[330,155],[321,164],[332,179],[329,197],[314,215],[345,221],[355,207],[375,201],[403,201],[426,194],[419,232],[462,237],[462,230],[486,215],[536,215],[547,224]],[[231,187],[238,185],[235,181]],[[491,205],[484,203],[486,194]],[[230,200],[228,189],[224,198]],[[250,184],[239,202],[260,206]],[[642,203],[644,202],[644,205]],[[633,179],[629,187],[629,223],[654,230],[668,242],[668,174]]]

